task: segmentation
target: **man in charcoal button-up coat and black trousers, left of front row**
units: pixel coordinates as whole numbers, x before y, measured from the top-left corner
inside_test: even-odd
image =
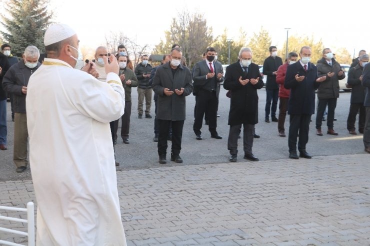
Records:
[[[171,161],[181,163],[180,158],[182,127],[185,120],[185,96],[192,92],[191,73],[181,65],[182,52],[173,48],[170,62],[159,66],[155,71],[152,88],[158,95],[157,114],[159,125],[159,163],[166,163],[167,136],[172,126]]]

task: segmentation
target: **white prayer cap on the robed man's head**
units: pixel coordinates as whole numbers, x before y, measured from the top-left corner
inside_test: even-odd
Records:
[[[59,42],[61,40],[64,40],[68,37],[71,37],[74,34],[76,34],[76,32],[72,28],[70,28],[68,25],[61,24],[61,23],[54,24],[54,25],[49,26],[49,28],[47,28],[47,30],[45,31],[45,36],[43,38],[43,44],[47,46],[47,45]]]

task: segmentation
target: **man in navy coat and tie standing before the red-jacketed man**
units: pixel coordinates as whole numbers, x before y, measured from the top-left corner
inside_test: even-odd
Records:
[[[298,62],[288,65],[284,81],[285,89],[290,89],[288,101],[288,114],[290,115],[289,158],[299,159],[296,153],[299,132],[299,156],[310,159],[311,156],[306,152],[306,144],[308,142],[309,122],[315,108],[314,91],[318,88],[320,82],[326,79],[326,76],[317,77],[316,66],[309,62],[311,58],[310,47],[303,46],[300,49],[299,57]]]

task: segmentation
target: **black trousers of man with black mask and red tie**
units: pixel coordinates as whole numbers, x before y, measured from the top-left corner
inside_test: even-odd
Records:
[[[208,129],[210,134],[217,135],[217,96],[216,91],[199,90],[195,102],[195,120],[193,130],[195,134],[201,134],[204,113],[208,112]]]

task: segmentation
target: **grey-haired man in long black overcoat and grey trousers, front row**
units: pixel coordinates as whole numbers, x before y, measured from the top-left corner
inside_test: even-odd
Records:
[[[229,65],[225,73],[223,88],[231,91],[230,111],[228,113],[227,149],[230,162],[237,159],[237,139],[243,125],[244,159],[258,161],[252,153],[254,125],[258,123],[257,89],[263,87],[258,65],[251,63],[252,51],[241,48],[239,61]]]

